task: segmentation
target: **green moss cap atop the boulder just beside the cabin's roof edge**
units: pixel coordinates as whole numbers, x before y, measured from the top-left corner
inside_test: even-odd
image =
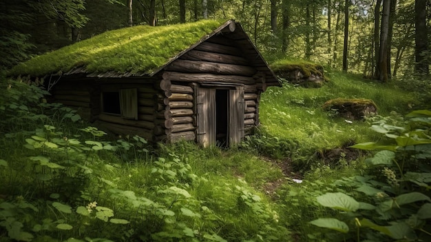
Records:
[[[282,59],[275,61],[270,66],[275,74],[301,70],[305,77],[310,77],[311,74],[319,74],[320,76],[323,76],[323,66],[310,61],[291,61]]]

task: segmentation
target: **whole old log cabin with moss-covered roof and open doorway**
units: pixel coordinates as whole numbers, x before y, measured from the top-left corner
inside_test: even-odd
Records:
[[[112,30],[34,57],[12,76],[43,79],[54,101],[116,134],[234,145],[281,86],[240,23],[204,20]]]

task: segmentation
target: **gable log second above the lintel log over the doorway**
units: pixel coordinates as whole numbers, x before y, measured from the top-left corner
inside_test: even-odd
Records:
[[[249,61],[244,59],[244,57],[237,57],[231,54],[204,52],[199,50],[189,50],[189,52],[182,55],[181,59],[188,59],[191,61],[212,61],[217,63],[249,65]]]

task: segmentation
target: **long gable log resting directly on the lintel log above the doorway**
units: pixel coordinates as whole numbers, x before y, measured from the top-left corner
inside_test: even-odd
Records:
[[[189,61],[177,59],[169,64],[165,70],[174,72],[232,74],[252,77],[256,70],[246,65],[213,63],[208,61]]]

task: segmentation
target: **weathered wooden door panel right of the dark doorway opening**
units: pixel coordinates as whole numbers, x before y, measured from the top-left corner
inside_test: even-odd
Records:
[[[244,87],[229,90],[229,145],[244,137]]]

